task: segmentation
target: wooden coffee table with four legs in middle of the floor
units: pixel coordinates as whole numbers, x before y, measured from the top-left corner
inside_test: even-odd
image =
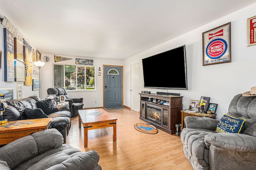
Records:
[[[88,146],[88,130],[113,127],[113,141],[116,141],[116,117],[104,109],[78,110],[79,128],[84,127],[84,147]]]

